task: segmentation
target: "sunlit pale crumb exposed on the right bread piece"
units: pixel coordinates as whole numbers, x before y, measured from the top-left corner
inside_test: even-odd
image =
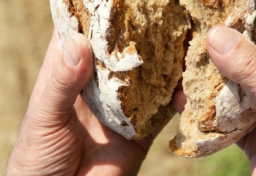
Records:
[[[218,133],[214,120],[215,98],[223,89],[227,78],[213,64],[205,42],[209,29],[224,23],[227,16],[223,7],[225,2],[224,0],[221,4],[213,1],[180,0],[180,4],[192,16],[194,33],[185,58],[186,71],[183,72],[183,91],[187,102],[185,111],[181,114],[177,135],[169,142],[169,147],[186,158],[207,155],[207,150],[201,150],[199,154],[200,149],[196,145],[198,139],[203,141],[225,135],[224,132]]]

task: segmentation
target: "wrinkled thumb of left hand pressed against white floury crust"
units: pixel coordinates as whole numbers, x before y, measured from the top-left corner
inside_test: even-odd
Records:
[[[93,71],[90,43],[82,34],[71,37],[61,58],[55,63],[49,81],[38,100],[44,121],[60,120],[70,114],[76,97]],[[47,119],[50,118],[50,119]],[[62,121],[64,122],[64,120]]]

